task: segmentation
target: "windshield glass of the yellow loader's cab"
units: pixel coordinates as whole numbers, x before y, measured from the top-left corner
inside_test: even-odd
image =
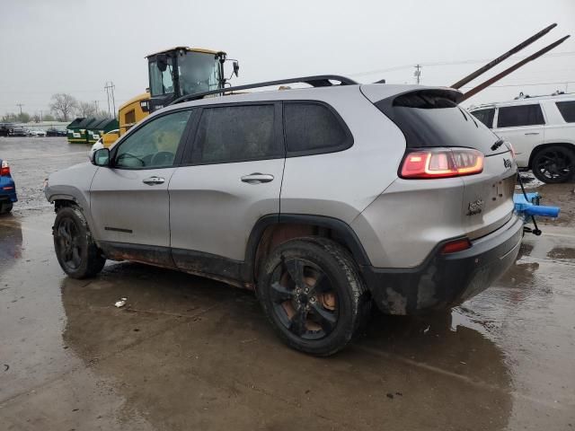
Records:
[[[178,68],[181,95],[217,90],[220,76],[214,54],[186,52],[178,57]]]

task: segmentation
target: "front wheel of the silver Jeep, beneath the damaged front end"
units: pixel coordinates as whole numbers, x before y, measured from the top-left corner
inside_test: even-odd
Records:
[[[69,277],[93,277],[102,270],[106,259],[93,242],[80,208],[60,208],[52,234],[57,261]]]

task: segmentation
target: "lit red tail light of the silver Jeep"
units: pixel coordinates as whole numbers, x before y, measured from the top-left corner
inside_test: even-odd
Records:
[[[429,148],[409,151],[400,176],[407,179],[459,177],[483,172],[484,155],[472,148]]]

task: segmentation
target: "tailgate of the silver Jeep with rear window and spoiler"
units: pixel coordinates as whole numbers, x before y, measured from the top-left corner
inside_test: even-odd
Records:
[[[403,131],[408,150],[465,147],[485,156],[481,173],[459,177],[463,201],[461,214],[449,215],[452,223],[461,217],[464,233],[472,240],[506,224],[513,214],[517,164],[508,145],[496,144],[498,137],[457,104],[461,93],[417,88],[377,101],[375,90],[366,87],[366,97]],[[441,180],[426,181],[438,181],[439,189]]]

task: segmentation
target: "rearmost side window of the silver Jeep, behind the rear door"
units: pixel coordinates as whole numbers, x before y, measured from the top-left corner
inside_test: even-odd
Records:
[[[349,148],[349,132],[332,110],[313,102],[284,103],[288,155],[320,154]]]

